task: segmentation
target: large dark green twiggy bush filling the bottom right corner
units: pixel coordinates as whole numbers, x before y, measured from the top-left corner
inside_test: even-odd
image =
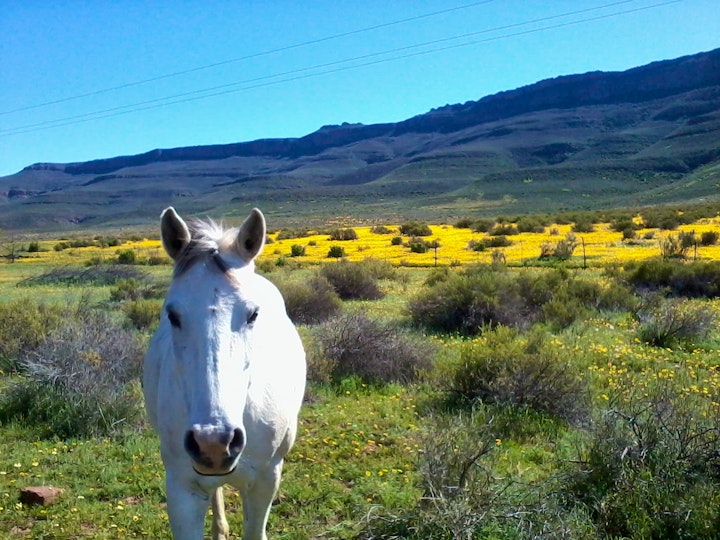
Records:
[[[603,538],[717,538],[720,417],[669,387],[611,397],[581,459],[566,464],[569,503]]]

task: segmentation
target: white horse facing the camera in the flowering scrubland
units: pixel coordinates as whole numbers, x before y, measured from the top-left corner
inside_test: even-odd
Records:
[[[305,353],[279,291],[255,273],[265,218],[239,229],[161,218],[175,261],[160,327],[145,358],[143,391],[160,435],[167,508],[176,540],[228,537],[222,486],[242,497],[243,539],[266,540],[283,459],[297,431]]]

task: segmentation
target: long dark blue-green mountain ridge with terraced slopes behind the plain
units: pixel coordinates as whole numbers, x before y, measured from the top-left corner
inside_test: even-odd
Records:
[[[275,225],[453,220],[720,200],[720,49],[558,77],[398,123],[35,164],[0,178],[0,228],[185,214]]]

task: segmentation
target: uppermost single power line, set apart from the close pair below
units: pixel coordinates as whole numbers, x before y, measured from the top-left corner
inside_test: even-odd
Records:
[[[407,19],[400,19],[400,20],[397,20],[397,21],[391,21],[391,22],[387,22],[387,23],[377,24],[377,25],[374,25],[374,26],[369,26],[369,27],[367,27],[367,28],[360,28],[360,29],[358,29],[358,30],[351,30],[351,31],[349,31],[349,32],[343,32],[343,33],[340,33],[340,34],[333,34],[333,35],[330,35],[330,36],[326,36],[326,37],[322,37],[322,38],[318,38],[318,39],[313,39],[313,40],[310,40],[310,41],[303,41],[303,42],[301,42],[301,43],[295,43],[295,44],[292,44],[292,45],[286,45],[286,46],[284,46],[284,47],[278,47],[277,49],[270,49],[270,50],[267,50],[267,51],[261,51],[261,52],[258,52],[258,53],[248,54],[248,55],[246,55],[246,56],[240,56],[240,57],[238,57],[238,58],[231,58],[231,59],[229,59],[229,60],[222,60],[222,61],[220,61],[220,62],[215,62],[215,63],[212,63],[212,64],[205,64],[205,65],[202,65],[202,66],[196,66],[196,67],[189,68],[189,69],[185,69],[185,70],[182,70],[182,71],[175,71],[175,72],[173,72],[173,73],[166,73],[166,74],[164,74],[164,75],[157,75],[157,76],[155,76],[155,77],[150,77],[150,78],[148,78],[148,79],[142,79],[142,80],[139,80],[139,81],[133,81],[133,82],[125,83],[125,84],[120,84],[120,85],[118,85],[118,86],[112,86],[112,87],[109,87],[109,88],[102,88],[102,89],[100,89],[100,90],[94,90],[94,91],[92,91],[92,92],[87,92],[87,93],[85,93],[85,94],[78,94],[78,95],[75,95],[75,96],[69,96],[69,97],[66,97],[66,98],[60,98],[60,99],[56,99],[56,100],[53,100],[53,101],[46,101],[46,102],[44,102],[44,103],[37,103],[37,104],[35,104],[35,105],[27,105],[27,106],[25,106],[25,107],[20,107],[20,108],[17,108],[17,109],[11,109],[11,110],[7,110],[7,111],[0,111],[0,115],[6,115],[6,114],[11,114],[11,113],[16,113],[16,112],[22,112],[22,111],[28,111],[28,110],[31,110],[31,109],[39,109],[39,108],[41,108],[41,107],[47,107],[47,106],[49,106],[49,105],[57,105],[58,103],[65,103],[65,102],[67,102],[67,101],[74,101],[74,100],[82,99],[82,98],[86,98],[86,97],[92,97],[92,96],[97,96],[97,95],[100,95],[100,94],[106,94],[106,93],[108,93],[108,92],[114,92],[114,91],[117,91],[117,90],[124,90],[124,89],[126,89],[126,88],[131,88],[131,87],[133,87],[133,86],[140,86],[140,85],[148,84],[148,83],[151,83],[151,82],[161,81],[161,80],[164,80],[164,79],[170,79],[170,78],[172,78],[172,77],[178,77],[178,76],[180,76],[180,75],[187,75],[187,74],[189,74],[189,73],[196,73],[196,72],[198,72],[198,71],[204,71],[204,70],[207,70],[207,69],[213,69],[213,68],[220,67],[220,66],[225,66],[225,65],[228,65],[228,64],[234,64],[234,63],[237,63],[237,62],[243,62],[243,61],[246,61],[246,60],[252,60],[252,59],[254,59],[254,58],[260,58],[260,57],[263,57],[263,56],[269,56],[269,55],[271,55],[271,54],[277,54],[277,53],[281,53],[281,52],[290,51],[290,50],[293,50],[293,49],[299,49],[299,48],[301,48],[301,47],[307,47],[307,46],[309,46],[309,45],[317,45],[318,43],[324,43],[324,42],[326,42],[326,41],[332,41],[332,40],[335,40],[335,39],[340,39],[340,38],[344,38],[344,37],[354,36],[354,35],[357,35],[357,34],[363,34],[363,33],[365,33],[365,32],[371,32],[371,31],[373,31],[373,30],[379,30],[379,29],[381,29],[381,28],[387,28],[387,27],[390,27],[390,26],[396,26],[396,25],[405,24],[405,23],[408,23],[408,22],[419,21],[419,20],[421,20],[421,19],[427,19],[427,18],[430,18],[430,17],[436,17],[436,16],[438,16],[438,15],[444,15],[444,14],[446,14],[446,13],[451,13],[451,12],[453,12],[453,11],[460,11],[460,10],[468,9],[468,8],[471,8],[471,7],[477,7],[477,6],[482,5],[482,4],[489,4],[490,2],[494,2],[494,1],[495,1],[495,0],[482,0],[482,1],[480,1],[480,2],[473,2],[472,4],[465,4],[465,5],[457,6],[457,7],[454,7],[454,8],[443,9],[443,10],[440,10],[440,11],[433,11],[433,12],[431,12],[431,13],[425,13],[425,14],[422,14],[422,15],[417,15],[417,16],[415,16],[415,17],[409,17],[409,18],[407,18]]]

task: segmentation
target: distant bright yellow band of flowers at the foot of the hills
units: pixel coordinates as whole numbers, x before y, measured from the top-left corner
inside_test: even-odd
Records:
[[[488,248],[484,251],[470,249],[472,242],[487,238],[484,233],[470,229],[456,228],[452,225],[431,225],[432,235],[423,239],[428,243],[436,243],[437,248],[430,247],[425,253],[412,252],[406,245],[394,244],[392,239],[400,235],[397,225],[389,225],[385,234],[372,232],[372,227],[354,227],[357,238],[354,240],[331,240],[327,233],[309,231],[299,238],[277,240],[278,232],[268,235],[269,244],[262,254],[263,260],[295,259],[299,263],[318,264],[333,260],[328,256],[330,248],[342,248],[343,257],[350,261],[365,258],[376,258],[388,261],[395,266],[431,267],[431,266],[464,266],[476,263],[489,263],[494,252],[501,252],[509,265],[532,266],[539,258],[544,244],[555,244],[572,231],[572,225],[551,225],[541,233],[520,233],[508,236],[511,244],[507,247]],[[576,247],[568,261],[576,266],[598,266],[608,263],[622,264],[629,260],[641,260],[657,257],[661,253],[661,242],[667,236],[694,232],[699,238],[704,232],[720,232],[720,218],[703,219],[698,222],[681,225],[676,230],[641,229],[631,240],[624,240],[620,232],[613,231],[608,223],[594,226],[594,230],[586,233],[574,233]],[[407,240],[406,238],[403,239]],[[161,260],[164,257],[162,246],[157,239],[126,241],[115,247],[78,247],[63,250],[53,249],[57,245],[53,241],[41,244],[41,250],[28,254],[19,262],[31,264],[45,262],[50,264],[110,262],[117,258],[119,251],[131,250],[138,260]],[[293,246],[300,246],[303,254],[293,256]],[[720,260],[720,243],[700,246],[690,250],[689,258]]]

